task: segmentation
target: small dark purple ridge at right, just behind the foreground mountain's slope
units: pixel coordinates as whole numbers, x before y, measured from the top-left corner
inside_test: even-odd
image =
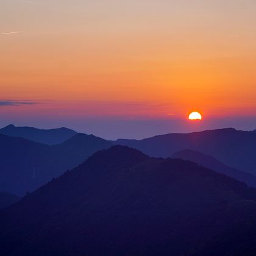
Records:
[[[216,172],[233,177],[237,180],[240,180],[241,182],[245,182],[250,187],[256,188],[256,177],[254,175],[224,165],[224,163],[219,162],[210,155],[205,155],[201,152],[187,149],[184,151],[176,152],[171,157],[198,163],[199,165],[205,166],[206,168],[213,169]]]

